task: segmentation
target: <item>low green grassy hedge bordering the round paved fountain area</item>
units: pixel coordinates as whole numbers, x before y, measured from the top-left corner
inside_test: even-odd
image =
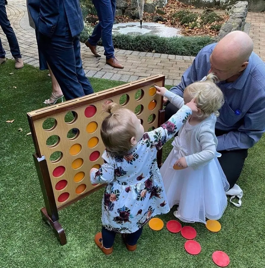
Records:
[[[81,33],[81,42],[88,39],[89,33],[84,30]],[[131,36],[125,34],[115,34],[112,36],[114,48],[155,52],[169,55],[196,56],[197,53],[206,45],[212,43],[209,36],[203,37],[159,37],[151,35]],[[98,45],[102,45],[100,40]]]

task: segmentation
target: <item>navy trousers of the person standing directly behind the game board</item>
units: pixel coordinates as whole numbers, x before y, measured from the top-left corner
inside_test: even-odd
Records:
[[[38,48],[67,101],[94,92],[83,70],[79,39],[80,36],[72,37],[69,30],[65,36],[53,35],[51,38],[38,32]]]

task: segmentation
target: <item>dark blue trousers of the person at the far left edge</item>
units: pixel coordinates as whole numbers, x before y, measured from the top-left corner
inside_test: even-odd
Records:
[[[13,31],[13,28],[10,25],[10,21],[8,20],[4,0],[0,0],[0,26],[8,39],[8,44],[12,56],[14,58],[21,58],[17,37]],[[5,50],[2,46],[1,39],[0,39],[0,58],[5,58]]]

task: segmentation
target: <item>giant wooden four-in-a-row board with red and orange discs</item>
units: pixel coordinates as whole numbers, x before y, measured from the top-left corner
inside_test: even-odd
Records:
[[[91,185],[89,172],[100,167],[105,150],[100,138],[104,101],[134,111],[145,131],[157,128],[163,102],[153,85],[164,86],[164,79],[151,76],[28,113],[36,154],[47,161],[58,209],[99,187]]]

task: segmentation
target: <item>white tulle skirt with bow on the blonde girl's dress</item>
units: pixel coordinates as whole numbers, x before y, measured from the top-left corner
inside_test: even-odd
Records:
[[[184,135],[174,139],[174,148],[160,169],[169,207],[179,205],[174,215],[183,222],[206,223],[206,218],[218,220],[226,209],[225,191],[229,189],[229,183],[217,159],[221,154],[216,153],[213,160],[199,169],[187,167],[174,170],[174,163],[180,157],[187,156],[185,143]]]

